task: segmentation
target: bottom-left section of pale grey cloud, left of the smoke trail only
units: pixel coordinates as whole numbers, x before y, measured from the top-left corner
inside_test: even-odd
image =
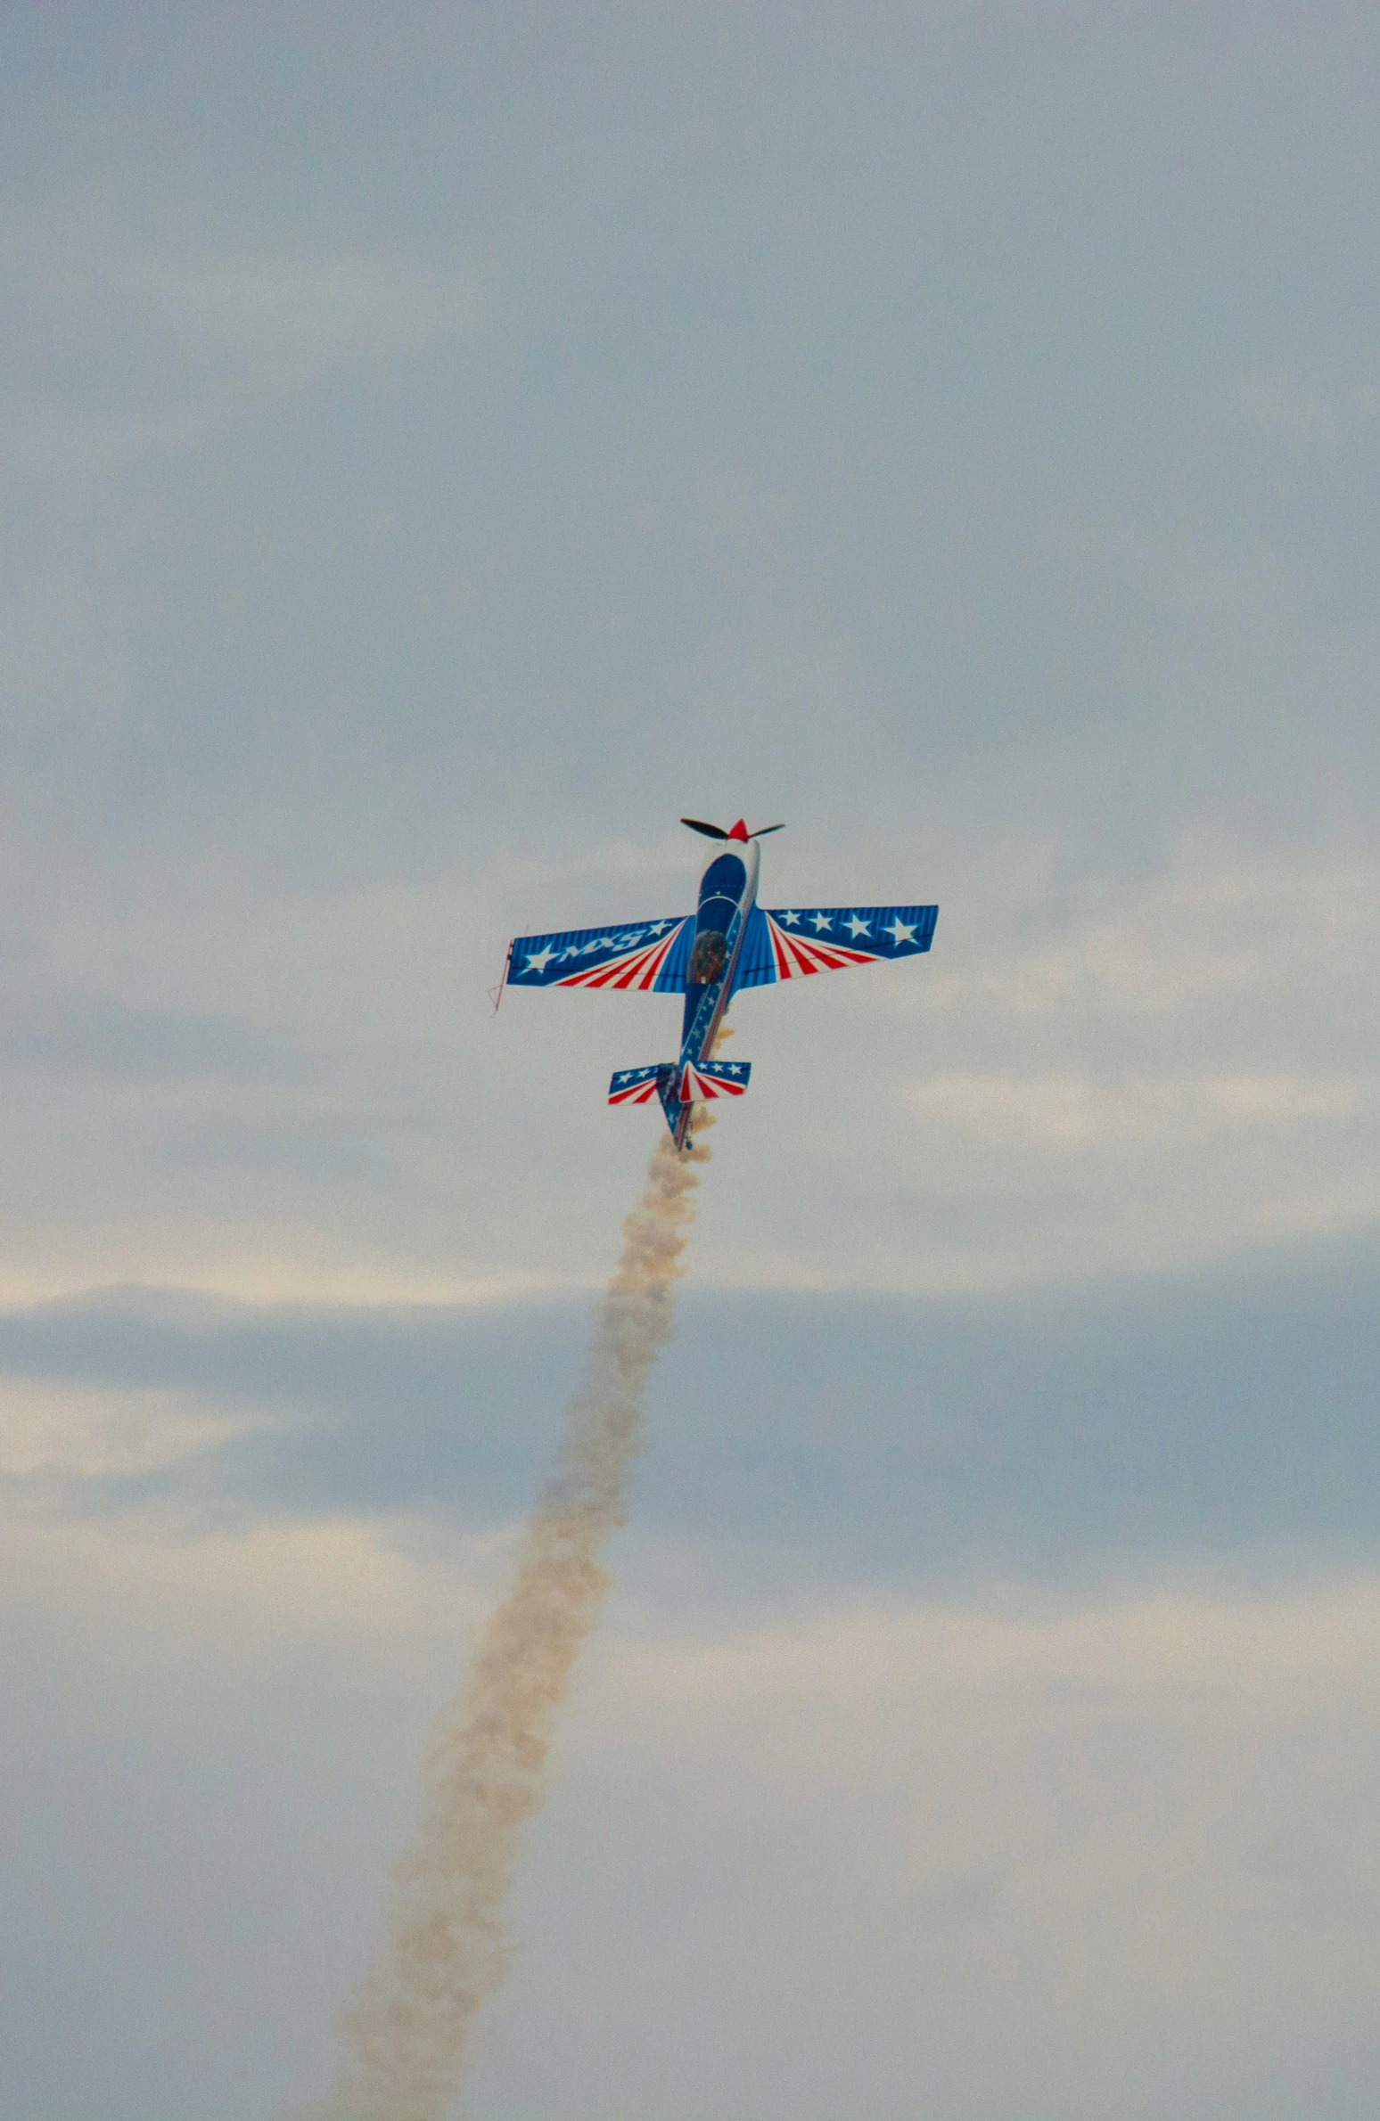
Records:
[[[236,2121],[325,2081],[501,1559],[342,1519],[187,1540],[6,1512],[11,2113]]]

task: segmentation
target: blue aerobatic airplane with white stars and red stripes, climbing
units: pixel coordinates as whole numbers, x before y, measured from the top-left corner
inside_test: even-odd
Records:
[[[679,1060],[626,1067],[609,1084],[609,1105],[660,1099],[677,1150],[688,1145],[696,1099],[741,1097],[747,1088],[752,1063],[711,1058],[724,1012],[743,986],[915,957],[930,948],[938,918],[938,906],[783,906],[764,912],[758,906],[758,840],[781,831],[781,825],[747,831],[739,819],[724,831],[696,817],[684,817],[682,825],[720,842],[701,876],[694,914],[518,935],[507,946],[499,980],[499,999],[505,984],[684,995]]]

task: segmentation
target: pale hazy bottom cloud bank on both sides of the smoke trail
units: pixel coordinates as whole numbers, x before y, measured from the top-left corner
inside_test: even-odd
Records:
[[[142,2055],[144,1977],[174,2004],[142,2064],[163,2110],[208,2070],[214,2115],[321,2087],[427,1718],[512,1540],[399,1531],[11,1521],[8,1788],[32,1805],[62,1773],[89,1820],[66,1850],[11,1850],[6,1898],[21,1917],[57,1894],[89,1934],[140,1936],[91,1996],[89,2038],[45,2064],[64,2110],[102,2110],[102,2083]],[[1335,2096],[1361,2096],[1369,1574],[1121,1599],[864,1593],[686,1627],[641,1603],[628,1559],[524,1864],[478,2115],[544,2108],[563,2083],[577,2121],[692,2121],[743,2110],[743,2087],[769,2121],[836,2113],[849,2087],[898,2121],[917,2098],[974,2121],[1017,2102],[1248,2121],[1272,2085],[1308,2083],[1321,2043]],[[55,1722],[45,1688],[79,1671],[76,1722]],[[142,1864],[79,1877],[151,1792]],[[189,1917],[212,2015],[174,1970]],[[70,1945],[28,1936],[21,1994],[66,1979],[85,1998]],[[42,2026],[19,2021],[21,2083]]]

